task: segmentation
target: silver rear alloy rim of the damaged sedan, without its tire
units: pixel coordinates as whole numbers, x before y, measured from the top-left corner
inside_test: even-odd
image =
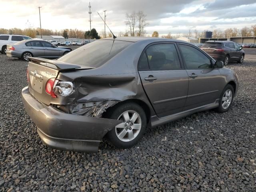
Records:
[[[123,121],[115,127],[116,136],[119,140],[129,142],[138,136],[142,122],[136,111],[125,111],[118,117],[118,120]]]

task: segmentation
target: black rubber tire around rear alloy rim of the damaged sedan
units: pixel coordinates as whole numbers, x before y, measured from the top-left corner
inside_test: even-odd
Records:
[[[142,136],[143,136],[143,134],[146,130],[146,126],[147,126],[146,114],[145,114],[144,110],[142,109],[142,107],[140,107],[136,103],[127,102],[127,103],[124,103],[124,104],[119,104],[118,106],[116,106],[116,107],[112,108],[111,110],[107,111],[107,114],[106,114],[105,117],[110,118],[110,119],[118,119],[118,117],[123,112],[128,111],[128,110],[134,110],[140,115],[140,118],[141,118],[141,121],[142,121],[142,126],[141,126],[141,129],[140,129],[140,132],[139,132],[138,136],[136,138],[134,138],[133,140],[129,141],[129,142],[123,142],[123,141],[119,140],[116,136],[115,128],[110,130],[106,134],[106,139],[108,140],[108,142],[110,142],[110,144],[112,144],[116,148],[130,148],[130,147],[134,146],[142,138]]]

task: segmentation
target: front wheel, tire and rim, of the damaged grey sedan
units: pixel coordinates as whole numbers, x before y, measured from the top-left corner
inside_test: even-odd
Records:
[[[220,100],[219,100],[219,106],[216,108],[216,111],[219,113],[224,113],[226,112],[230,106],[233,103],[234,99],[234,88],[232,85],[228,84],[222,91],[220,95]]]

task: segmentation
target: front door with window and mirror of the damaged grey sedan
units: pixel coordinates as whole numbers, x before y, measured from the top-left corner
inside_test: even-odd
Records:
[[[213,68],[211,58],[195,46],[179,43],[179,50],[189,76],[184,110],[214,103],[220,97],[219,85],[224,81],[219,70]]]

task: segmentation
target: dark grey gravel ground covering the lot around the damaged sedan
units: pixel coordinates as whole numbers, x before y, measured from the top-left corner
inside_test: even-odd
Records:
[[[148,129],[135,147],[98,154],[46,147],[25,112],[27,62],[0,54],[0,191],[256,191],[256,60],[229,64],[240,90],[213,110]]]

